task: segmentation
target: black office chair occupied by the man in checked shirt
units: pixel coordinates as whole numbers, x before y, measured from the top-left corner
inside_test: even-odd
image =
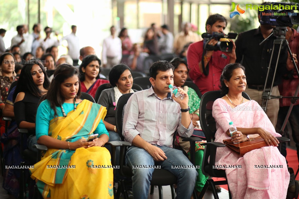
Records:
[[[115,122],[116,122],[116,129],[120,135],[121,140],[123,141],[122,129],[123,129],[123,113],[124,113],[124,106],[126,105],[127,101],[131,97],[133,93],[128,93],[120,96],[118,99],[118,103],[116,105],[116,113],[115,113]],[[132,177],[132,170],[129,166],[125,164],[125,151],[127,146],[131,146],[129,142],[122,142],[122,146],[120,147],[120,175],[124,177],[131,178]],[[159,189],[159,198],[163,198],[163,191],[162,186],[170,185],[171,187],[171,195],[172,198],[175,197],[174,187],[173,184],[177,182],[176,176],[165,169],[155,169],[152,174],[152,181],[151,185],[158,186]],[[127,198],[127,189],[124,180],[119,181],[118,189],[116,198],[119,198],[120,193],[123,193],[124,197]],[[135,196],[138,198],[138,196]]]

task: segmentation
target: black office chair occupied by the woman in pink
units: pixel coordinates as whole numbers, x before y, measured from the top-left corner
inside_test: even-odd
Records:
[[[242,96],[250,100],[249,96],[245,92],[242,92]],[[207,143],[202,144],[205,146],[204,157],[202,160],[202,173],[216,178],[226,178],[225,170],[213,168],[213,165],[215,165],[216,149],[218,147],[225,147],[225,144],[221,142],[214,142],[216,133],[216,121],[212,116],[212,107],[214,101],[222,97],[223,95],[221,95],[220,90],[206,92],[204,95],[202,95],[199,107],[200,126],[202,127],[207,140]],[[284,137],[277,137],[277,139],[280,142],[289,141],[288,138]],[[278,147],[280,149],[280,145]],[[209,157],[210,161],[208,162]],[[203,198],[205,192],[210,186],[212,188],[214,198],[219,199],[215,186],[223,184],[228,184],[227,180],[213,181],[213,179],[208,179],[199,195],[199,198]],[[229,198],[231,198],[229,187],[228,192]]]

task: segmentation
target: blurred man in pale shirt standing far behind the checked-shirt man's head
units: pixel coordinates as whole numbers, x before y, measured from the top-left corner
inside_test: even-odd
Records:
[[[169,32],[168,26],[161,26],[162,36],[159,39],[158,47],[161,54],[173,53],[173,35]]]

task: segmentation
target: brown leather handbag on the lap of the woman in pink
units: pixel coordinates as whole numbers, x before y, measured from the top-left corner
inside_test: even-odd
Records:
[[[231,139],[223,140],[223,143],[232,151],[238,153],[240,156],[243,156],[245,153],[254,149],[260,149],[264,146],[268,146],[261,136],[245,142],[240,142],[239,144],[234,144]]]

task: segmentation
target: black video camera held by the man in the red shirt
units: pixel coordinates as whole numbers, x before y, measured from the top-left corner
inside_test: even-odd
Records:
[[[231,41],[220,41],[221,38],[227,38],[227,39],[235,39],[237,37],[238,33],[228,33],[228,35],[225,35],[224,33],[218,33],[213,32],[212,34],[209,33],[203,33],[202,38],[204,38],[204,48],[206,50],[220,50],[222,52],[231,52],[233,50],[233,43]],[[215,38],[218,40],[217,44],[215,46],[208,44],[208,41],[210,39]]]

